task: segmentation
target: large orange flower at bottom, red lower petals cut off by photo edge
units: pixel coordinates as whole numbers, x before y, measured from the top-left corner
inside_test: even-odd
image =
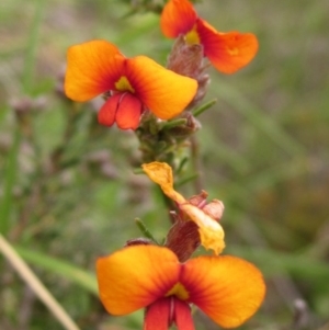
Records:
[[[251,263],[203,255],[180,263],[169,249],[132,246],[100,258],[101,300],[115,316],[147,307],[144,330],[193,330],[190,304],[224,328],[243,323],[260,307],[265,285]]]

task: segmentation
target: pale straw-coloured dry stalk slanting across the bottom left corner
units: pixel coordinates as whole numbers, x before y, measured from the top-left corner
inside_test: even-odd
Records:
[[[44,286],[44,284],[38,280],[38,277],[33,273],[24,260],[22,260],[22,258],[1,234],[0,252],[11,263],[22,280],[31,287],[34,294],[47,306],[47,308],[53,312],[53,315],[65,329],[79,330],[79,327],[66,312],[66,310],[58,304],[49,291]]]

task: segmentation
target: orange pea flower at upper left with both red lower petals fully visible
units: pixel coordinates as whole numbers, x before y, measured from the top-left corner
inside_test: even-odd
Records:
[[[106,41],[71,46],[67,61],[67,96],[84,102],[111,91],[98,120],[105,126],[116,122],[121,129],[136,129],[145,109],[161,120],[177,116],[197,89],[195,80],[167,70],[146,56],[126,58]]]

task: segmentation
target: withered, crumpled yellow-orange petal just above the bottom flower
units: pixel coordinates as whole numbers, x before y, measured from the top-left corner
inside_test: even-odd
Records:
[[[206,249],[212,249],[216,254],[219,254],[225,248],[222,226],[201,208],[189,203],[189,201],[173,189],[171,167],[166,162],[158,161],[144,163],[141,167],[150,180],[158,183],[163,193],[178,204],[179,209],[197,225],[201,243]],[[217,202],[220,203],[223,212],[223,203],[220,201]]]

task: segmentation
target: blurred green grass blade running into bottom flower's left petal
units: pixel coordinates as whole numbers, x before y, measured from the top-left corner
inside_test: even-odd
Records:
[[[99,291],[97,280],[92,274],[69,264],[68,262],[52,258],[41,252],[32,251],[26,248],[16,246],[15,250],[25,261],[41,266],[52,273],[60,275],[65,280],[71,281],[98,296]]]

